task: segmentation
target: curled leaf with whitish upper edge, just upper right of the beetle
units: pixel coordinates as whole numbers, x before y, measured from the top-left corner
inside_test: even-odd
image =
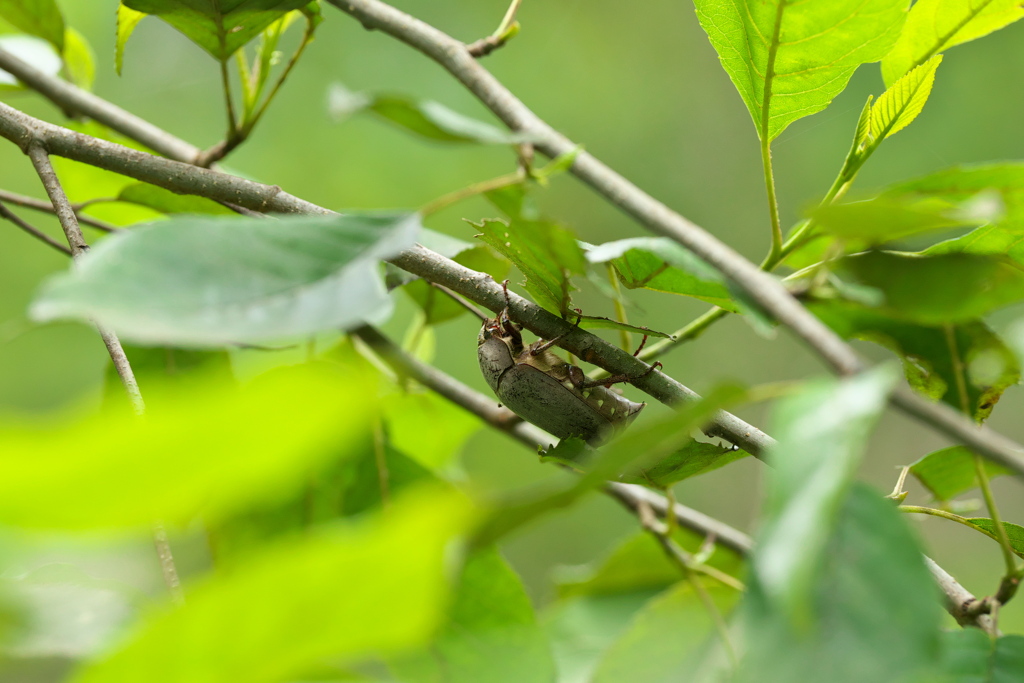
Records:
[[[707,301],[738,312],[722,275],[689,250],[666,238],[631,238],[590,247],[591,263],[611,262],[629,289],[644,288]]]

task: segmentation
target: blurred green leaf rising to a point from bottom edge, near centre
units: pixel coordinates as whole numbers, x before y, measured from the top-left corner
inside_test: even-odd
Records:
[[[447,620],[428,651],[398,659],[407,683],[554,683],[547,638],[519,577],[493,549],[463,567]]]

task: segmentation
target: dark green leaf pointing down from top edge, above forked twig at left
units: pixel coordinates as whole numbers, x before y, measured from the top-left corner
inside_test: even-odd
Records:
[[[122,0],[122,4],[130,9],[156,14],[164,19],[220,61],[227,60],[239,48],[289,11],[299,9],[308,2],[309,0]],[[118,42],[123,46],[120,37]]]

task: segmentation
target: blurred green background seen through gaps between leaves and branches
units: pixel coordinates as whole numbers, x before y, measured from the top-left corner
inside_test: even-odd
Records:
[[[504,0],[394,4],[467,41],[489,34],[506,8]],[[165,24],[150,18],[129,41],[119,77],[113,68],[117,2],[63,0],[60,5],[69,24],[87,37],[95,51],[95,92],[200,146],[220,139],[223,101],[216,62],[209,55]],[[230,169],[337,210],[416,208],[514,170],[515,159],[506,147],[432,143],[370,115],[335,121],[328,108],[335,84],[355,91],[429,98],[468,116],[492,118],[430,60],[364,30],[334,8],[325,8],[325,13],[327,20],[315,41],[254,137],[227,160]],[[599,159],[743,255],[760,260],[768,248],[769,230],[757,136],[697,25],[692,5],[651,0],[640,8],[610,0],[527,0],[519,19],[520,35],[488,56],[486,67],[541,117]],[[1024,24],[1018,23],[951,51],[939,69],[922,115],[871,159],[852,195],[955,164],[1024,158],[1022,46]],[[797,122],[776,140],[775,173],[783,225],[799,219],[825,193],[849,146],[864,99],[883,87],[878,67],[862,67],[831,106]],[[4,93],[4,99],[34,116],[63,121],[60,112],[35,94]],[[61,164],[74,200],[72,167],[70,162]],[[0,187],[43,196],[28,159],[11,144],[0,145]],[[568,176],[556,177],[540,201],[546,214],[570,226],[586,242],[644,234]],[[104,211],[110,209],[97,208],[95,215],[104,216]],[[427,225],[471,240],[477,230],[465,219],[495,215],[483,200],[471,200],[432,215]],[[55,221],[37,222],[59,233]],[[36,327],[27,321],[28,302],[41,281],[66,265],[62,256],[9,225],[0,225],[0,412],[5,421],[96,404],[103,394],[108,359],[91,330],[71,324]],[[588,313],[612,314],[606,299],[586,283],[583,288],[578,303]],[[629,298],[632,323],[666,331],[678,329],[706,308],[697,301],[648,291],[632,291]],[[399,294],[396,313],[383,329],[401,339],[415,310]],[[999,331],[1021,315],[1024,306],[1004,309],[993,316],[993,327]],[[469,316],[437,327],[432,333],[436,335],[433,362],[487,391],[475,358],[476,333],[477,324]],[[860,344],[859,348],[872,358],[886,357],[878,347]],[[237,372],[246,375],[294,358],[289,351],[250,350],[234,353],[232,362]],[[729,379],[756,384],[824,373],[784,332],[765,339],[740,319],[731,318],[663,360],[667,373],[697,391]],[[632,392],[631,397],[639,400]],[[647,410],[655,415],[663,409],[652,404]],[[1021,410],[1022,392],[1012,387],[990,425],[1024,439]],[[765,423],[759,408],[739,415],[755,425]],[[862,478],[889,490],[896,466],[945,444],[932,431],[889,414],[871,438]],[[485,429],[469,436],[453,467],[471,490],[484,496],[565,476]],[[679,485],[678,498],[750,529],[759,508],[761,468],[754,459],[744,459]],[[911,497],[924,495],[915,483],[909,486]],[[993,487],[1004,518],[1024,522],[1020,482],[1000,477]],[[996,584],[1001,566],[996,544],[942,520],[912,522],[930,544],[930,553],[968,588],[985,594]],[[594,496],[513,537],[504,551],[523,577],[530,597],[544,604],[554,596],[553,572],[564,573],[563,565],[594,560],[635,528],[632,515],[612,501]],[[89,575],[117,580],[143,593],[163,590],[147,542],[111,547],[9,539],[4,546],[0,561],[5,572],[30,571],[54,560],[72,561]],[[186,577],[203,567],[205,558],[204,549],[181,546],[179,562]],[[1009,632],[1024,629],[1020,600],[1004,610],[1001,624]]]

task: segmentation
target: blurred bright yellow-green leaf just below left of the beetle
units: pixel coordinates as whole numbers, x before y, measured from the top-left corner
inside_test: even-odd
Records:
[[[396,392],[383,399],[391,443],[431,471],[452,462],[483,423],[432,391]]]

